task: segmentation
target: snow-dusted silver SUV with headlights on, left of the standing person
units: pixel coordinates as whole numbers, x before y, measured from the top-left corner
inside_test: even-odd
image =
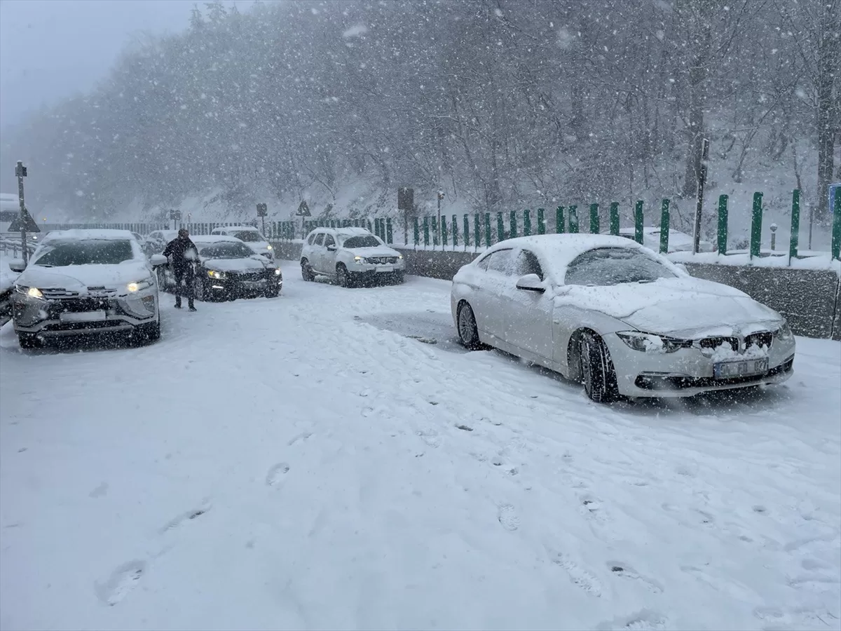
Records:
[[[153,259],[129,231],[51,231],[29,265],[9,263],[20,272],[12,297],[20,347],[115,332],[156,340],[161,319],[153,264],[166,259]]]

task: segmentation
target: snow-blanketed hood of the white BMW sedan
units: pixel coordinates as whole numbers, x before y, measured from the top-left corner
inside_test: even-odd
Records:
[[[691,277],[611,287],[571,286],[555,300],[559,305],[601,311],[640,331],[678,337],[713,329],[723,334],[733,327],[748,333],[746,326],[782,320],[775,310],[738,289]]]

